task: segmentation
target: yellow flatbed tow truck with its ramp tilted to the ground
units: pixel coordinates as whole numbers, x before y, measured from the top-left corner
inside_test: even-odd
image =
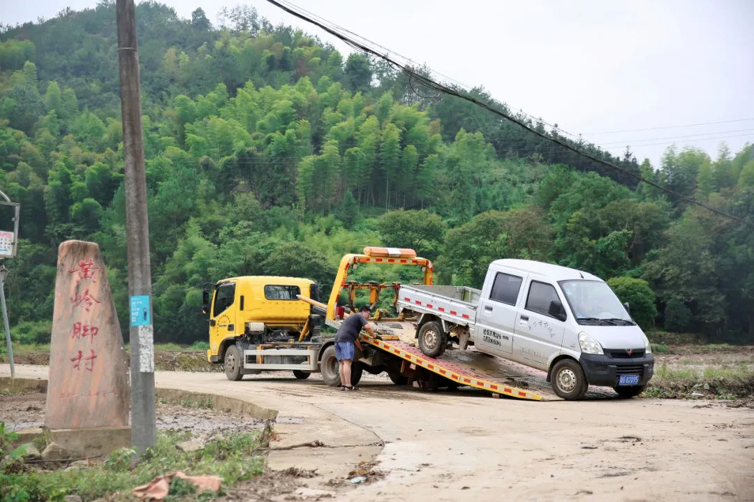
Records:
[[[541,399],[511,386],[512,380],[492,361],[495,358],[473,350],[452,350],[442,359],[422,354],[416,337],[431,319],[406,310],[394,314],[399,299],[405,300],[399,298],[401,283],[353,279],[357,268],[396,265],[418,269],[421,283],[431,286],[430,260],[419,258],[412,249],[379,247],[343,256],[327,304],[319,302],[319,288],[308,279],[257,276],[210,283],[211,289],[204,289],[204,313],[210,319],[207,359],[223,364],[229,380],[262,371],[293,370],[301,379],[321,372],[327,385],[339,387],[335,343],[320,335],[320,320],[324,317],[327,326],[337,329],[343,318],[357,311],[357,295],[366,292],[368,301],[363,302],[372,306],[369,322],[375,326],[375,336],[361,334],[364,350],[356,354],[352,385],[364,371],[387,372],[395,384],[416,382],[427,389],[465,385],[495,396]]]

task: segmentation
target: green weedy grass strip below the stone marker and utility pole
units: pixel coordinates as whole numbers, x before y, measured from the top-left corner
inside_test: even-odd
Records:
[[[176,444],[189,439],[189,434],[169,431],[158,433],[155,447],[147,449],[133,469],[135,452],[129,448],[113,451],[106,461],[93,467],[15,473],[6,468],[0,470],[0,500],[62,500],[68,494],[93,500],[115,492],[127,493],[176,470],[193,476],[214,474],[224,486],[230,486],[262,473],[264,460],[259,448],[264,446],[265,437],[260,431],[222,436],[199,451],[185,452]],[[196,494],[191,488],[176,483],[170,486],[170,494],[179,500],[209,500],[217,495]]]

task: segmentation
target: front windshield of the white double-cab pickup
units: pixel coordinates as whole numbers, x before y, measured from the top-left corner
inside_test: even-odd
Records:
[[[559,284],[579,324],[633,326],[626,308],[607,283],[561,280]]]

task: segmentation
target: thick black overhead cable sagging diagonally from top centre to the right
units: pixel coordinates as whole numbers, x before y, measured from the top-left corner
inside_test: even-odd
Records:
[[[298,11],[295,11],[293,8],[290,8],[287,5],[283,5],[280,2],[277,2],[277,0],[267,0],[267,1],[269,3],[271,3],[272,5],[276,5],[278,8],[283,9],[288,14],[291,14],[291,15],[293,15],[295,17],[298,17],[299,19],[304,20],[307,23],[311,23],[314,26],[318,26],[319,28],[321,28],[321,29],[325,30],[326,32],[328,32],[330,35],[333,35],[336,38],[339,38],[341,41],[345,42],[345,44],[348,44],[350,47],[353,47],[357,51],[361,51],[361,52],[363,52],[365,54],[372,54],[375,57],[379,57],[382,60],[387,61],[391,65],[396,66],[398,69],[400,69],[407,76],[413,77],[417,81],[421,82],[421,84],[424,84],[425,87],[431,87],[432,89],[439,90],[439,91],[441,91],[443,93],[449,94],[450,96],[457,96],[457,97],[459,97],[461,99],[465,99],[466,101],[468,101],[470,103],[474,103],[475,105],[480,106],[481,108],[486,109],[489,112],[494,113],[495,115],[499,115],[500,117],[502,117],[502,118],[504,118],[504,119],[506,119],[508,121],[511,121],[514,124],[519,125],[523,129],[528,130],[530,133],[533,133],[533,134],[541,137],[542,139],[546,139],[547,141],[556,143],[557,145],[560,145],[563,148],[566,148],[566,149],[568,149],[568,150],[570,150],[570,151],[572,151],[572,152],[574,152],[574,153],[576,153],[578,155],[581,155],[581,157],[588,158],[591,161],[595,161],[598,164],[602,164],[602,165],[604,165],[606,167],[609,167],[612,170],[616,170],[619,173],[623,173],[623,174],[625,174],[627,176],[630,176],[630,177],[632,177],[634,179],[637,179],[640,182],[645,182],[648,185],[651,185],[654,188],[657,188],[658,190],[661,190],[661,191],[666,192],[667,194],[673,195],[673,197],[679,198],[681,200],[685,200],[689,204],[694,204],[696,206],[703,207],[704,209],[710,211],[711,213],[715,213],[715,214],[718,214],[720,216],[725,216],[726,218],[733,219],[733,220],[735,220],[737,222],[741,221],[736,216],[733,216],[731,214],[725,213],[724,211],[721,211],[721,210],[717,210],[714,207],[710,207],[707,204],[704,204],[702,202],[699,202],[698,200],[692,199],[691,197],[687,197],[687,196],[685,196],[683,194],[679,194],[677,191],[671,190],[670,188],[666,188],[666,187],[660,185],[657,182],[651,181],[650,179],[645,179],[643,176],[639,176],[638,174],[633,173],[630,170],[625,169],[624,167],[620,167],[620,166],[618,166],[616,164],[612,164],[611,162],[603,161],[602,159],[597,158],[594,155],[590,155],[587,152],[582,152],[578,148],[575,148],[574,146],[569,145],[569,143],[562,142],[562,141],[560,141],[557,138],[553,138],[552,136],[548,136],[545,133],[541,133],[540,131],[535,130],[532,127],[529,127],[529,125],[526,124],[526,123],[524,123],[523,121],[520,121],[517,118],[511,117],[507,113],[501,112],[500,110],[495,109],[492,106],[489,106],[487,103],[481,102],[479,99],[474,98],[474,96],[469,96],[467,93],[458,92],[458,90],[455,90],[452,87],[448,87],[445,84],[440,84],[439,82],[434,81],[433,79],[431,79],[429,77],[426,77],[425,75],[421,75],[421,74],[413,71],[408,66],[398,63],[396,60],[394,60],[393,58],[389,57],[387,54],[380,54],[378,51],[375,51],[375,49],[373,49],[372,47],[368,47],[365,44],[362,44],[359,41],[356,41],[353,38],[350,38],[347,35],[344,35],[343,33],[339,32],[337,29],[334,29],[334,28],[329,27],[329,26],[325,26],[323,23],[320,23],[319,21],[314,20],[311,17],[306,16],[305,14],[302,14],[302,13],[300,13]],[[289,4],[290,4],[290,2],[289,2]],[[290,4],[290,5],[293,5],[293,4]]]

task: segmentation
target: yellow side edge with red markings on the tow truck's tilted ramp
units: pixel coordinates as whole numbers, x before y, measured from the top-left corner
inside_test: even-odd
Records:
[[[492,378],[491,375],[482,375],[479,372],[468,369],[461,363],[427,357],[424,354],[421,354],[421,350],[417,347],[412,347],[404,341],[380,340],[379,338],[372,338],[371,336],[364,334],[361,335],[360,340],[373,347],[385,350],[389,354],[394,354],[417,367],[428,369],[437,375],[456,381],[461,385],[489,390],[493,394],[502,394],[517,399],[531,399],[534,401],[540,401],[542,399],[542,396],[539,394],[529,392],[528,390],[510,387],[510,385],[489,380],[488,378]]]

